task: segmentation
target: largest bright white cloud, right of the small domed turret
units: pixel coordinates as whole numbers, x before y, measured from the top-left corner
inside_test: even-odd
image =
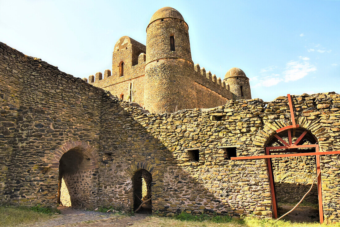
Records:
[[[309,62],[290,61],[286,64],[286,70],[283,72],[286,82],[299,80],[308,75],[309,72],[316,71],[317,68]]]

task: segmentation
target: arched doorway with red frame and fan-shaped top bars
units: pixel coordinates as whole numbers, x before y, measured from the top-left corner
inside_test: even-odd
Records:
[[[299,153],[314,153],[319,151],[318,140],[309,131],[302,128],[282,130],[271,136],[266,143],[266,155],[278,155],[268,158],[274,216],[278,217],[290,209],[310,189],[311,183],[317,177],[317,162],[319,156],[299,156]],[[279,157],[285,154],[296,154],[293,157]],[[319,163],[320,170],[320,163]],[[318,184],[313,185],[302,204],[284,219],[296,222],[318,222],[319,201],[321,193]],[[322,208],[321,208],[322,212]],[[320,213],[320,215],[322,215]]]

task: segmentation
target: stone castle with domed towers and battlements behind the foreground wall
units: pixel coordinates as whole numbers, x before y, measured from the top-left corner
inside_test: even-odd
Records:
[[[121,37],[106,69],[88,82],[150,112],[211,108],[231,99],[251,99],[249,79],[231,68],[224,80],[191,60],[188,25],[171,7],[157,10],[147,26],[147,45]],[[85,79],[86,80],[86,79]]]

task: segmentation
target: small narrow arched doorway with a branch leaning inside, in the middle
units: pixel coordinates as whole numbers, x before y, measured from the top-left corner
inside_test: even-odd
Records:
[[[133,210],[137,212],[152,212],[151,202],[152,175],[145,169],[135,172],[132,177],[133,185]],[[147,201],[148,200],[148,201]],[[147,201],[147,202],[145,202]],[[142,206],[140,206],[143,204]]]

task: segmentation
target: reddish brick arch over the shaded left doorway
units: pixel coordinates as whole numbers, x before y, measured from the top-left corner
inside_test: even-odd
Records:
[[[67,151],[73,148],[82,148],[84,155],[90,159],[90,164],[86,166],[87,170],[98,168],[98,153],[96,148],[84,141],[67,141],[63,146],[54,152],[51,168],[59,168],[59,161]]]

